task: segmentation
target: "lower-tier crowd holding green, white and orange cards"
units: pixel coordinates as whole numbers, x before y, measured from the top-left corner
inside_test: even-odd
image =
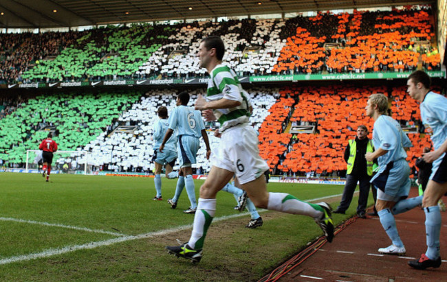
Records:
[[[434,87],[435,91],[439,90]],[[252,96],[254,128],[259,131],[261,156],[268,161],[274,175],[342,176],[346,165],[343,148],[356,134],[356,128],[373,121],[364,115],[366,99],[371,93],[390,97],[390,114],[410,133],[413,148],[408,162],[413,167],[429,139],[421,130],[419,107],[408,99],[405,86],[285,86],[248,89]],[[191,90],[192,95],[201,93]],[[0,158],[8,165],[23,165],[26,150],[35,150],[44,137],[43,128],[54,127],[61,133],[58,143],[64,150],[86,150],[94,155],[94,165],[116,172],[151,170],[151,124],[155,109],[161,104],[172,110],[175,93],[152,90],[145,95],[128,94],[60,94],[36,99],[1,99]],[[290,132],[290,126],[308,126],[306,133]],[[134,127],[131,133],[113,133],[118,126]],[[208,124],[208,128],[216,125]],[[419,128],[417,128],[419,127]],[[212,130],[210,140],[213,140]],[[198,157],[199,166],[209,168],[205,152]],[[17,166],[17,165],[16,165]],[[104,168],[103,168],[104,169]]]

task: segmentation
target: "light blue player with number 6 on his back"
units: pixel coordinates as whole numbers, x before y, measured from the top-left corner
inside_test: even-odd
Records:
[[[206,134],[205,125],[201,114],[198,110],[188,107],[189,94],[187,92],[179,93],[177,96],[177,107],[171,113],[169,118],[169,128],[166,130],[160,152],[164,149],[165,143],[173,134],[177,132],[179,146],[179,163],[182,170],[182,176],[177,180],[177,188],[173,199],[168,200],[171,207],[177,207],[179,193],[182,192],[183,186],[186,187],[186,193],[190,200],[190,207],[184,213],[195,213],[197,203],[195,200],[195,185],[193,179],[193,163],[196,163],[197,151],[199,150],[199,138],[202,137],[206,145],[206,158],[210,157],[210,144],[208,143],[208,135]],[[183,184],[184,183],[184,184]]]

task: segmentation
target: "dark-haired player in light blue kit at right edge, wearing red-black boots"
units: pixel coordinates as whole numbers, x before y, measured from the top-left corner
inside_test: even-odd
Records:
[[[416,269],[439,268],[439,235],[441,213],[437,202],[447,192],[447,98],[430,91],[430,77],[424,71],[415,71],[406,82],[408,94],[421,102],[421,120],[425,132],[430,134],[435,150],[422,154],[427,163],[433,163],[430,179],[424,191],[422,207],[425,212],[427,250],[420,259],[408,261]]]

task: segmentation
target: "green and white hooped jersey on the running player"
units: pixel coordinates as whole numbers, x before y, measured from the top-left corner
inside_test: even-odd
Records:
[[[248,123],[250,96],[242,89],[235,71],[223,64],[218,64],[211,71],[211,79],[208,81],[208,89],[206,89],[206,100],[216,101],[222,98],[239,101],[241,106],[212,110],[220,123],[219,132],[237,124]]]

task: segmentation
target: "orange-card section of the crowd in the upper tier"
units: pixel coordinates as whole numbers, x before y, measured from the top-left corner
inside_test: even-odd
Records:
[[[439,70],[430,10],[322,14],[287,21],[287,44],[272,69],[291,73]],[[324,25],[321,23],[327,22]],[[298,27],[294,27],[298,23]],[[328,24],[329,23],[329,24]],[[290,27],[292,25],[292,27]],[[318,27],[318,32],[313,28]],[[296,30],[296,33],[292,31]],[[316,36],[318,35],[318,36]],[[419,58],[420,57],[420,58]]]

